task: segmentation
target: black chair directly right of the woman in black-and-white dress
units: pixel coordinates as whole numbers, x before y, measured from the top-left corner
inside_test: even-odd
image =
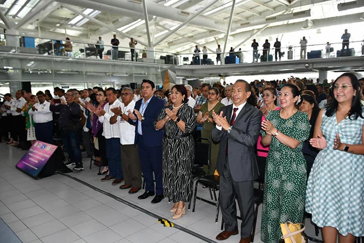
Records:
[[[209,139],[204,138],[197,138],[195,143],[195,160],[194,166],[192,168],[192,179],[193,185],[196,183],[197,179],[206,175],[204,170],[204,165],[207,166],[208,170],[210,171],[210,164],[211,164],[211,141]],[[196,194],[196,191],[193,192],[193,195]],[[211,200],[212,200],[212,194]],[[191,209],[191,202],[189,203],[188,209]]]

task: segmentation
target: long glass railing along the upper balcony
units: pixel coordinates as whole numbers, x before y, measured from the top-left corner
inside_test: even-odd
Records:
[[[20,46],[15,45],[14,41],[19,41]],[[363,41],[350,41],[349,48],[345,49],[342,49],[342,42],[336,42],[331,43],[328,48],[326,44],[313,44],[307,45],[306,48],[282,46],[279,51],[275,48],[264,49],[260,47],[257,50],[238,50],[220,54],[215,52],[203,53],[202,49],[200,49],[200,53],[171,53],[152,51],[146,48],[135,48],[132,51],[129,47],[124,46],[116,47],[104,44],[104,48],[100,48],[96,43],[15,35],[8,35],[8,41],[1,39],[0,44],[0,51],[3,52],[122,60],[160,65],[227,65],[364,55]]]

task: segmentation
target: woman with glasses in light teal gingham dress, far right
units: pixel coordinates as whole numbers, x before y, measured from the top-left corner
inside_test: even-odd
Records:
[[[306,194],[306,211],[325,243],[364,236],[364,107],[354,74],[338,77],[332,101],[319,112],[310,144],[319,150]]]

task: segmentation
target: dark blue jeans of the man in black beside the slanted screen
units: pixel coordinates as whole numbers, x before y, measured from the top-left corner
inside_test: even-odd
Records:
[[[78,143],[78,135],[76,131],[62,130],[61,132],[63,146],[68,153],[69,159],[82,166],[82,155]]]

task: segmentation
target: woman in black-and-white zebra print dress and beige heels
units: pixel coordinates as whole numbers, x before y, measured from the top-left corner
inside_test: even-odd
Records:
[[[192,167],[195,158],[195,113],[187,104],[187,90],[175,85],[171,91],[172,105],[162,109],[155,123],[157,130],[164,128],[163,138],[163,193],[174,205],[173,219],[186,213],[185,202],[192,197]]]

